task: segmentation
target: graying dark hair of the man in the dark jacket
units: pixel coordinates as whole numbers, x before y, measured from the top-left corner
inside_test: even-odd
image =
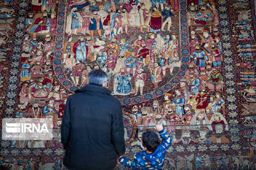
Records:
[[[102,86],[107,79],[107,73],[105,73],[102,69],[95,69],[88,74],[88,84]]]

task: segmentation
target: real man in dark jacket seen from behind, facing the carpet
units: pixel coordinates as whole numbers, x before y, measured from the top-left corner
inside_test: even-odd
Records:
[[[68,97],[61,125],[68,169],[114,169],[125,152],[122,108],[105,88],[107,78],[95,69],[88,84]]]

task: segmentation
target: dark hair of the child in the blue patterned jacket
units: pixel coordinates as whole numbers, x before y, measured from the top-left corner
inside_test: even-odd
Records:
[[[160,144],[158,135],[149,130],[142,134],[142,145],[146,147],[149,152],[154,152]]]

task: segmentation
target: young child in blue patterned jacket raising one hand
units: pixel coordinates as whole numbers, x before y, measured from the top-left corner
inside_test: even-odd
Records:
[[[153,131],[142,134],[142,146],[144,151],[134,154],[133,159],[120,157],[119,162],[129,169],[164,169],[164,157],[166,150],[171,146],[171,136],[164,130],[163,125],[156,125],[162,142]]]

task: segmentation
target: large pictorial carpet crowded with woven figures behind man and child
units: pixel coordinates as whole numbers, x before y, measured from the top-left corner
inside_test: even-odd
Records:
[[[65,101],[101,68],[122,103],[127,157],[161,123],[173,140],[165,169],[256,168],[255,1],[0,3],[1,119],[54,123],[51,141],[1,140],[0,164],[66,169]]]

